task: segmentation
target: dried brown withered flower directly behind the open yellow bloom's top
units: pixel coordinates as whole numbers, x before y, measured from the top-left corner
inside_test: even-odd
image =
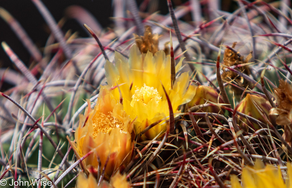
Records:
[[[149,25],[145,25],[144,36],[134,34],[136,45],[138,46],[141,53],[152,52],[153,55],[158,49],[158,34],[152,34],[152,29]]]

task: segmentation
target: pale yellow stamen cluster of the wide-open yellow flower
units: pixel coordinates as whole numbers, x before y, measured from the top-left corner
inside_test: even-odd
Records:
[[[134,102],[136,101],[141,101],[147,105],[148,102],[152,100],[158,102],[161,100],[161,96],[159,95],[157,89],[144,84],[144,86],[140,89],[136,88],[134,95],[132,96],[131,106],[134,106]]]

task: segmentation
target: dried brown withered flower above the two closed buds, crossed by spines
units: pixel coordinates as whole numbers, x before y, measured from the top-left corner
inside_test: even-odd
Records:
[[[232,48],[235,48],[237,42],[234,42],[232,45]],[[240,65],[244,63],[248,63],[250,59],[252,58],[252,53],[250,53],[245,59],[243,56],[239,57],[238,54],[233,52],[231,49],[225,49],[224,56],[223,56],[223,63],[226,66],[234,66],[234,65]],[[229,71],[227,68],[223,68],[223,74],[222,77],[224,80],[232,81],[234,80],[239,86],[246,88],[250,83],[243,79],[243,77],[239,76],[233,71]],[[250,74],[250,69],[248,65],[242,66],[237,68],[238,71],[245,73],[246,75]],[[236,96],[241,96],[242,91],[240,91],[238,88],[235,88],[231,86],[231,90],[235,93]]]

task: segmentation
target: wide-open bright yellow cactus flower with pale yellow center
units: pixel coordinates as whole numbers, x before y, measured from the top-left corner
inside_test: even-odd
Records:
[[[181,68],[183,58],[176,65],[176,71]],[[153,56],[139,51],[136,45],[130,49],[127,61],[120,53],[115,53],[115,65],[106,61],[105,75],[110,87],[119,84],[126,113],[135,120],[136,134],[150,124],[169,116],[169,108],[162,85],[170,98],[174,113],[179,113],[179,105],[185,104],[194,97],[195,86],[189,86],[188,72],[183,72],[171,85],[170,56],[160,50]],[[120,98],[118,90],[114,91],[116,99]],[[178,116],[178,115],[176,115]],[[161,122],[151,128],[140,138],[151,140],[164,133],[167,123]],[[160,137],[163,135],[161,134]]]

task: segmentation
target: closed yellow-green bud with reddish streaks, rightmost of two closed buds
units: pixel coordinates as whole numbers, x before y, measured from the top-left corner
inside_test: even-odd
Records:
[[[251,95],[248,93],[247,96],[238,104],[237,111],[266,123],[263,116],[268,118],[271,108],[272,106],[269,101],[264,99],[262,96]],[[242,116],[239,116],[239,126],[247,130],[247,125],[250,125],[250,121]],[[252,125],[256,130],[260,128],[256,123],[252,123]]]

